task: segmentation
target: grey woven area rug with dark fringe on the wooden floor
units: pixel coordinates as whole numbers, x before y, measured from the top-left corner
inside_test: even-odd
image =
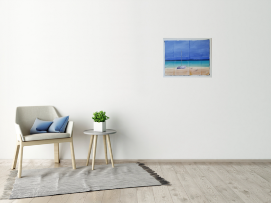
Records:
[[[11,171],[4,188],[4,199],[42,197],[71,194],[97,190],[109,190],[128,187],[170,185],[144,163],[124,163],[111,165],[79,166]]]

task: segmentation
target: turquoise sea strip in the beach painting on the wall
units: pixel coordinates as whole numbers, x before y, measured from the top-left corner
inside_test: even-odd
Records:
[[[186,67],[210,67],[209,60],[175,60],[175,61],[165,61],[165,68],[177,68],[178,66],[185,65]]]

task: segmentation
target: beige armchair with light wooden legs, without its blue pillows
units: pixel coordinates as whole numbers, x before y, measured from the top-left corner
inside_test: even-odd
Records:
[[[68,122],[64,133],[41,133],[30,135],[30,129],[36,118],[52,121],[56,117],[61,116],[53,106],[17,107],[15,121],[17,140],[11,169],[16,168],[20,150],[18,178],[21,178],[22,175],[23,149],[25,146],[54,144],[54,162],[59,163],[59,143],[70,142],[73,169],[76,169],[73,144],[73,121]]]

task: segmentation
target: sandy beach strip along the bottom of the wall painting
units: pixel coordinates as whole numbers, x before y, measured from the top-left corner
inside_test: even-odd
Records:
[[[175,74],[173,74],[173,72]],[[165,75],[210,75],[209,67],[193,67],[193,68],[183,68],[176,69],[166,68]]]

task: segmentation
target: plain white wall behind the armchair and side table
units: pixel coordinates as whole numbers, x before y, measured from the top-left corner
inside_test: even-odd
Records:
[[[17,106],[70,115],[85,159],[106,111],[116,159],[271,158],[270,0],[1,0],[0,158]],[[212,78],[163,78],[163,38],[213,38]],[[104,158],[102,138],[97,158]],[[61,158],[71,158],[60,144]],[[53,145],[24,158],[53,158]]]

